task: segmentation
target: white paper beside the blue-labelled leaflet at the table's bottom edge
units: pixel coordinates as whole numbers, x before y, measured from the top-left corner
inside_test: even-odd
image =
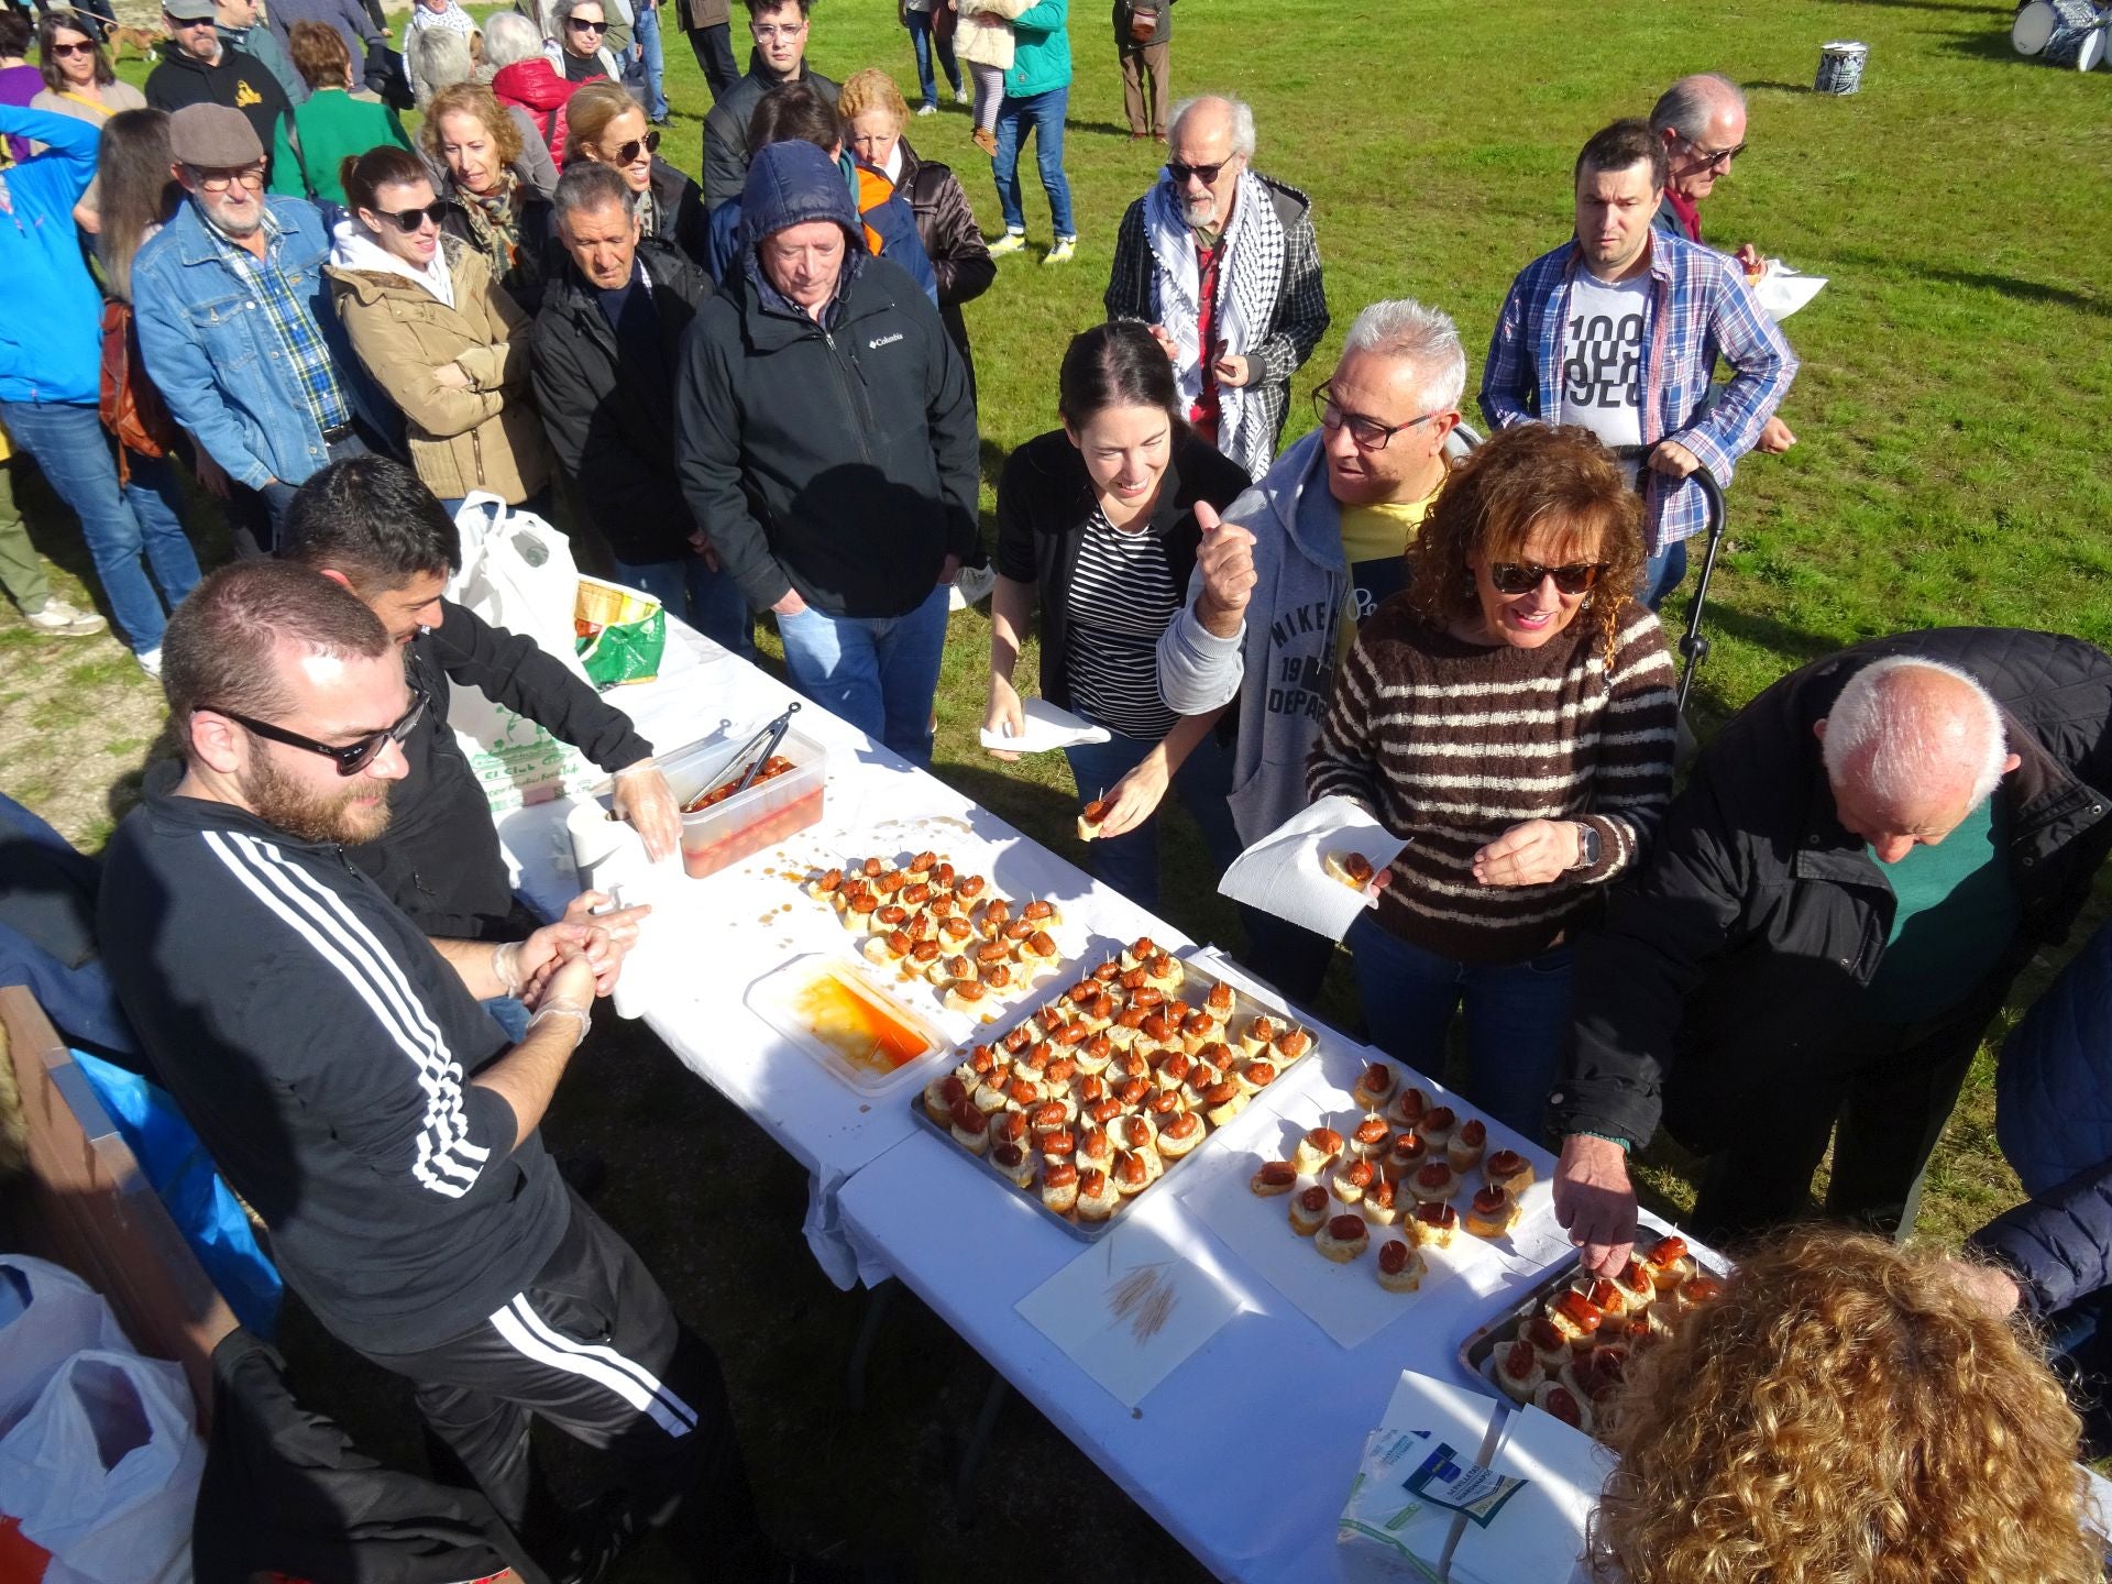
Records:
[[[1614,1453],[1557,1419],[1525,1407],[1510,1415],[1487,1468],[1525,1481],[1487,1529],[1468,1523],[1453,1546],[1453,1584],[1567,1580],[1584,1557],[1584,1525]]]

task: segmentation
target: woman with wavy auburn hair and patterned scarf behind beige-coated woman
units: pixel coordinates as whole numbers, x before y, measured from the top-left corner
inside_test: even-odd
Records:
[[[545,260],[558,230],[549,194],[528,173],[528,142],[520,122],[490,89],[456,82],[433,95],[418,144],[448,205],[439,228],[475,247],[507,296],[534,317],[543,306]],[[543,146],[536,144],[534,152],[541,154]],[[547,156],[543,163],[549,163]]]

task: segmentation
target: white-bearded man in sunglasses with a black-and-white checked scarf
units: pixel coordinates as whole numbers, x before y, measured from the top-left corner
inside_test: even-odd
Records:
[[[1328,315],[1312,203],[1252,158],[1248,106],[1174,106],[1164,180],[1121,218],[1105,302],[1155,327],[1189,425],[1259,479]]]

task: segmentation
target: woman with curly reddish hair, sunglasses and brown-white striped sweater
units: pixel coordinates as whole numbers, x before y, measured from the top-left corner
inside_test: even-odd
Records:
[[[1453,469],[1409,585],[1358,625],[1305,767],[1409,845],[1350,929],[1364,1026],[1542,1132],[1571,938],[1673,794],[1673,661],[1637,602],[1641,501],[1578,427],[1519,425]]]

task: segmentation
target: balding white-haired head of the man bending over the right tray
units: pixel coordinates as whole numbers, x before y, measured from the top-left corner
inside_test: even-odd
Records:
[[[1947,705],[1907,693],[1897,682],[1903,672],[1941,672],[1962,682],[1973,703],[1966,718]],[[2009,741],[2002,708],[1970,674],[1918,655],[1886,655],[1848,678],[1848,686],[1827,710],[1821,741],[1827,781],[1854,784],[1886,809],[1905,809],[1922,796],[1932,775],[1973,771],[1977,809],[2002,779]],[[1861,762],[1859,762],[1861,760]]]

